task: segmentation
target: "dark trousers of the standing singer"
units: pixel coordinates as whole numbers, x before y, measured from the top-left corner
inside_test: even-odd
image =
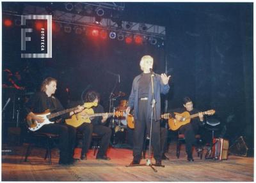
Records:
[[[136,160],[141,159],[143,149],[143,142],[146,133],[150,135],[150,119],[147,119],[147,100],[139,101],[138,103],[138,120],[135,121],[134,138],[133,138],[133,157]],[[161,160],[160,148],[160,122],[152,122],[152,147],[154,152],[154,159]]]

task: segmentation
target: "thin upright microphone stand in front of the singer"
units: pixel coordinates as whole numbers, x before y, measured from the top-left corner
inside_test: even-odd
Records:
[[[150,121],[150,135],[149,135],[149,147],[148,147],[148,157],[145,164],[139,164],[139,165],[127,165],[128,166],[150,166],[154,172],[157,172],[157,170],[153,166],[161,166],[164,167],[164,165],[156,165],[151,163],[151,137],[152,137],[152,124],[153,124],[153,112],[155,113],[156,117],[156,99],[154,94],[154,73],[151,72],[151,87],[152,87],[152,102],[151,102],[151,121]],[[155,119],[155,122],[157,120]]]

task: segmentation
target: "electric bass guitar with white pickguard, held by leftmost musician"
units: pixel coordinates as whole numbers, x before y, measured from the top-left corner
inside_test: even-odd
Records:
[[[92,106],[97,106],[97,105],[98,105],[98,103],[93,102],[93,103],[84,103],[83,106],[84,106],[84,108],[91,108]],[[43,113],[35,113],[35,115],[37,115],[38,117],[44,118],[44,122],[38,122],[35,120],[30,121],[27,119],[27,123],[29,124],[29,130],[36,131],[36,130],[40,129],[42,126],[44,126],[45,124],[54,123],[54,122],[50,121],[50,119],[52,119],[54,117],[58,117],[60,115],[68,113],[68,112],[72,112],[74,110],[77,110],[77,107],[69,108],[69,109],[62,110],[60,112],[55,112],[55,113],[51,113],[50,110],[45,110],[45,112],[43,112]]]

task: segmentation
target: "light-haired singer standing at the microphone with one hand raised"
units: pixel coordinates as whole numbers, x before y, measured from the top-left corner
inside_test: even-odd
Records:
[[[160,119],[161,119],[161,98],[160,93],[168,93],[170,86],[168,81],[170,76],[165,74],[157,75],[152,72],[154,59],[150,55],[144,55],[140,61],[140,68],[143,71],[140,75],[134,78],[132,82],[132,91],[129,97],[129,106],[126,112],[129,113],[131,108],[134,108],[134,146],[133,160],[131,165],[140,164],[141,152],[143,149],[143,140],[145,129],[147,134],[150,134],[150,121],[152,110],[152,84],[151,77],[154,82],[154,98],[156,100],[153,113],[152,123],[152,146],[154,149],[154,159],[156,165],[161,165],[161,147],[160,147]]]

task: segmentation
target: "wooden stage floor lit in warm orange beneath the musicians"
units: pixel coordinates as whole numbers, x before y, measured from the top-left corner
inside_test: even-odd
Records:
[[[184,145],[182,145],[184,147]],[[2,152],[2,181],[154,181],[154,182],[245,182],[253,181],[253,157],[228,156],[228,160],[215,161],[199,159],[194,155],[194,162],[186,161],[184,149],[180,159],[175,157],[175,145],[170,145],[162,167],[154,172],[150,166],[125,167],[132,160],[132,150],[108,150],[111,161],[97,160],[93,150],[88,152],[88,160],[77,161],[72,166],[58,165],[58,151],[52,152],[52,165],[44,160],[45,150],[33,149],[28,163],[20,162],[24,148],[9,147],[11,152]],[[142,159],[141,163],[146,160]],[[152,159],[152,163],[155,163]]]

